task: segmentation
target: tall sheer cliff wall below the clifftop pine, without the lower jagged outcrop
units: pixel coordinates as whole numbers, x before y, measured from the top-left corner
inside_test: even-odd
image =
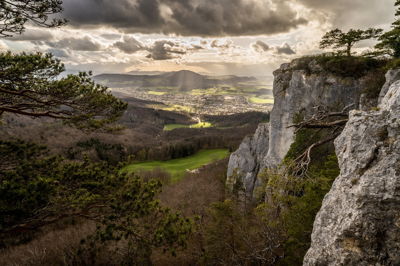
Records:
[[[294,141],[294,128],[286,128],[292,124],[294,114],[307,114],[310,108],[320,104],[346,106],[359,99],[362,89],[357,81],[344,83],[347,80],[332,75],[306,75],[304,70],[293,70],[297,63],[294,60],[290,64],[282,64],[273,72],[274,107],[269,128],[271,144],[266,157],[266,164],[272,168],[282,162]],[[312,61],[309,67],[316,69],[318,65]]]

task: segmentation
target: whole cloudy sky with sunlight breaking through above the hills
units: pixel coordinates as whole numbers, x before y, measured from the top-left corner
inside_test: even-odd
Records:
[[[394,0],[64,0],[68,26],[26,24],[0,50],[51,52],[67,69],[270,76],[280,64],[322,53],[339,28],[389,31]],[[354,51],[377,43],[357,43]],[[330,51],[326,49],[325,51]]]

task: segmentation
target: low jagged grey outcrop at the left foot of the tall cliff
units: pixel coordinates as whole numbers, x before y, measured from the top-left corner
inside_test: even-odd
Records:
[[[254,185],[257,183],[257,175],[263,165],[264,158],[269,149],[268,123],[260,123],[254,135],[247,135],[239,149],[233,152],[229,159],[228,177],[233,169],[240,167],[240,172],[244,173],[243,183],[251,195]]]

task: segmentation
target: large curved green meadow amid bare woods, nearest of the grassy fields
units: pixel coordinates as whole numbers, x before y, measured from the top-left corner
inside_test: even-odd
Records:
[[[177,173],[186,173],[186,169],[194,170],[202,167],[204,164],[212,162],[214,156],[218,156],[218,159],[225,158],[228,156],[229,149],[211,149],[211,150],[200,150],[196,154],[180,159],[169,160],[166,162],[162,161],[134,161],[128,167],[128,171],[132,172],[142,167],[142,169],[151,170],[153,167],[161,167],[171,172],[172,176]]]

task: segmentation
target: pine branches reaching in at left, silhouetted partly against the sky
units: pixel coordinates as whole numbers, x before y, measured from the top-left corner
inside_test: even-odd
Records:
[[[10,112],[32,118],[47,116],[75,125],[84,132],[118,133],[127,103],[107,87],[95,85],[92,73],[56,78],[65,70],[51,53],[0,54],[0,115]]]

